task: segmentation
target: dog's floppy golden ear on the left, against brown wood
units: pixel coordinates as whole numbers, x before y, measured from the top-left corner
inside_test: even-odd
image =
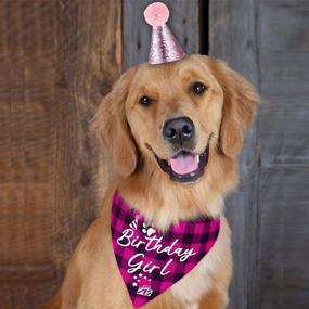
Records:
[[[121,75],[103,99],[93,118],[91,130],[102,140],[112,156],[117,175],[130,176],[137,166],[137,150],[127,123],[125,102],[137,68]]]

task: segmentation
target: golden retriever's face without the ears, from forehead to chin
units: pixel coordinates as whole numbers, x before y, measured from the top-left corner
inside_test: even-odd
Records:
[[[126,102],[132,136],[171,181],[193,182],[208,162],[210,139],[218,136],[222,89],[198,61],[143,65]]]

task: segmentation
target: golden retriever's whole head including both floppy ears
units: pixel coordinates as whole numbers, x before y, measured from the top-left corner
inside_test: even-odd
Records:
[[[123,176],[142,164],[194,184],[211,156],[236,157],[257,103],[252,86],[224,64],[190,55],[125,73],[93,126]]]

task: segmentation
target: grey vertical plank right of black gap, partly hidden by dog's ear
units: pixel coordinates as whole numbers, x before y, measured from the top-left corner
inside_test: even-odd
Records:
[[[224,60],[259,88],[256,1],[209,1],[209,54]],[[255,125],[240,157],[240,186],[227,201],[234,274],[229,308],[257,308],[258,136]]]

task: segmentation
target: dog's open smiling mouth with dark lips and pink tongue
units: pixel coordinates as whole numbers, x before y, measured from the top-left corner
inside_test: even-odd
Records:
[[[169,175],[172,181],[182,183],[194,182],[203,176],[208,163],[209,142],[202,154],[181,150],[168,159],[159,158],[155,153],[154,156],[159,167]]]

